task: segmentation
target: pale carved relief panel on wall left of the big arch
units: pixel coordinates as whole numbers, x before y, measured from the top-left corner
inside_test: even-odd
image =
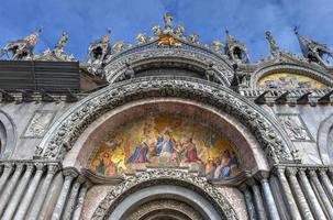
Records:
[[[43,138],[52,123],[55,111],[40,110],[35,111],[24,130],[22,138]]]

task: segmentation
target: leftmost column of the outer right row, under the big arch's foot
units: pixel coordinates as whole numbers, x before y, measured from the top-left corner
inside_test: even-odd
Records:
[[[277,167],[276,173],[277,173],[278,179],[280,182],[282,191],[286,196],[286,199],[287,199],[287,202],[288,202],[287,208],[289,210],[291,219],[301,220],[302,219],[301,215],[300,215],[300,212],[297,208],[297,205],[296,205],[296,201],[293,199],[291,189],[289,187],[288,180],[287,180],[286,175],[285,175],[285,167]]]

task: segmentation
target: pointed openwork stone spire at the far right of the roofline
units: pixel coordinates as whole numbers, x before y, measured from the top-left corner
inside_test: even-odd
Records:
[[[295,28],[293,32],[298,37],[303,56],[310,62],[328,65],[328,61],[324,61],[324,55],[333,58],[333,52],[326,45],[300,35],[297,28]]]

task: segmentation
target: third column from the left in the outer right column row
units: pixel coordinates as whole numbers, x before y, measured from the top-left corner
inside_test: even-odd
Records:
[[[325,220],[326,217],[315,197],[315,194],[312,189],[312,186],[311,184],[309,183],[309,179],[306,175],[306,172],[304,172],[304,168],[299,168],[298,170],[298,174],[299,174],[299,177],[300,177],[300,182],[303,186],[303,189],[304,189],[304,193],[306,195],[308,196],[309,198],[309,204],[311,204],[311,207],[313,208],[313,212],[314,212],[314,216],[317,219],[320,219],[320,220]]]

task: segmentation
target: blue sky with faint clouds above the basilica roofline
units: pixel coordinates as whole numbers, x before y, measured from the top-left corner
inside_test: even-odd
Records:
[[[36,52],[53,47],[67,31],[66,51],[81,61],[90,42],[111,29],[111,43],[135,42],[138,33],[152,33],[170,11],[174,23],[200,42],[224,42],[224,30],[247,46],[256,61],[269,54],[266,30],[281,48],[300,53],[292,32],[299,32],[333,48],[333,0],[1,0],[0,46],[21,38],[43,25]]]

